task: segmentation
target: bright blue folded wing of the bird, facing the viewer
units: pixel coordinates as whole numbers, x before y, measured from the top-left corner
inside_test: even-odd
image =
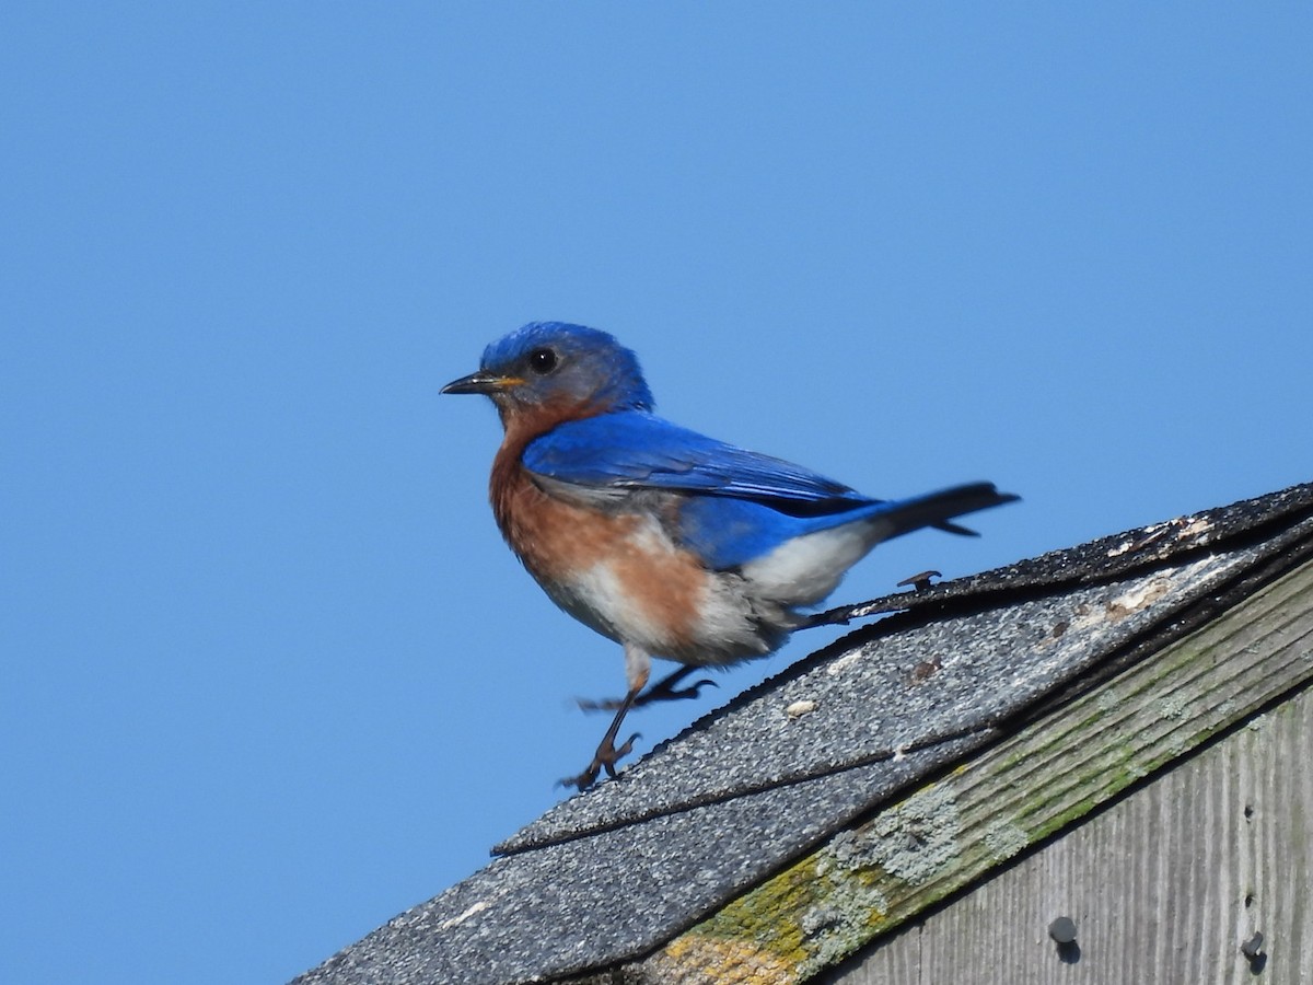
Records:
[[[660,489],[751,499],[802,515],[877,500],[801,465],[688,431],[641,411],[558,426],[529,444],[529,471],[593,489]]]

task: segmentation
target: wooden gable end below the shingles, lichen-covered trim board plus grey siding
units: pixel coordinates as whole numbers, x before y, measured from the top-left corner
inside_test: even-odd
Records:
[[[1152,595],[1152,584],[1142,588],[1145,598]],[[1123,609],[1109,605],[1090,617],[1121,619]],[[1313,563],[1305,563],[1197,632],[834,835],[626,967],[626,981],[815,978],[850,985],[827,969],[876,947],[867,965],[846,972],[856,976],[851,982],[1205,985],[1247,980],[1226,977],[1237,968],[1236,973],[1253,974],[1239,944],[1257,929],[1267,936],[1268,952],[1283,940],[1288,942],[1283,950],[1289,948],[1283,963],[1260,968],[1264,981],[1313,985],[1313,959],[1302,953],[1313,948],[1306,926],[1313,897],[1313,725],[1306,699],[1293,700],[1310,679]],[[1208,747],[1236,722],[1260,712],[1257,732],[1242,730]],[[1229,762],[1203,788],[1199,780],[1179,788],[1201,763],[1241,755],[1218,750],[1233,750],[1246,737],[1255,741],[1268,722],[1274,729],[1289,722],[1289,732],[1264,739],[1271,749],[1243,746],[1253,763]],[[1204,754],[1191,756],[1194,750]],[[1157,781],[1145,784],[1150,776]],[[1237,785],[1239,777],[1245,788]],[[978,894],[990,890],[978,889],[931,918],[924,930],[890,938],[981,879],[1014,880],[1016,872],[1035,871],[1039,855],[1015,868],[1010,860],[1058,833],[1065,834],[1041,847],[1040,855],[1066,851],[1069,839],[1083,844],[1081,839],[1092,835],[1082,825],[1103,833],[1113,814],[1096,812],[1127,792],[1130,796],[1116,810],[1145,809],[1149,817],[1104,834],[1087,862],[1073,856],[1058,872],[1041,871],[1014,894],[986,898]],[[1237,806],[1238,801],[1243,802]],[[1247,818],[1245,806],[1251,808]],[[1237,810],[1245,838],[1237,834]],[[1237,884],[1243,884],[1238,897]],[[964,915],[956,917],[958,911]],[[1074,963],[1058,960],[1045,938],[1049,921],[1064,914],[1085,927],[1078,938],[1082,957]],[[932,923],[953,919],[964,923],[926,943]],[[1085,957],[1086,951],[1098,960]],[[1215,977],[1200,977],[1203,969]],[[1278,978],[1283,969],[1293,969],[1295,977]]]

